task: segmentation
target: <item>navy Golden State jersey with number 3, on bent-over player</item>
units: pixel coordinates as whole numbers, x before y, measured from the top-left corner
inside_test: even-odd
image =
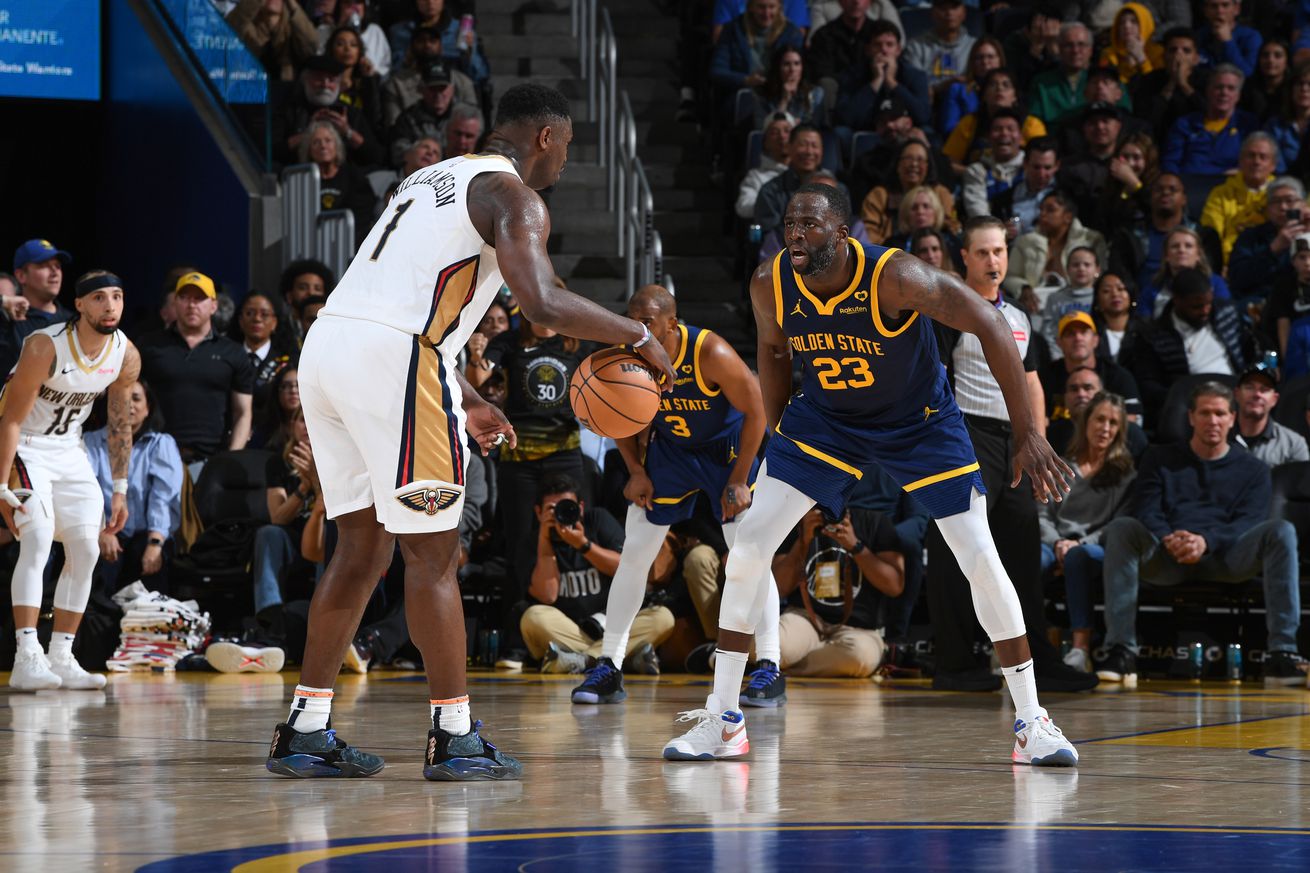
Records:
[[[701,346],[709,330],[679,324],[681,334],[673,372],[673,391],[660,395],[659,412],[651,422],[651,436],[672,446],[703,446],[734,431],[743,416],[720,388],[710,388],[701,370]]]

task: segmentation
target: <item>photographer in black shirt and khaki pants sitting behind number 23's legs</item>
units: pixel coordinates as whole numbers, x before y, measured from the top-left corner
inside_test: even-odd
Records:
[[[799,592],[778,621],[782,667],[793,676],[863,679],[887,651],[884,599],[905,587],[905,556],[891,519],[875,510],[841,518],[815,507],[773,558],[778,594]]]

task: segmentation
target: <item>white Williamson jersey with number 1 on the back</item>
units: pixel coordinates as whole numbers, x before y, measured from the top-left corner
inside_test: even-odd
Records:
[[[423,337],[453,360],[502,286],[495,249],[469,219],[482,173],[517,177],[508,159],[462,155],[405,178],[321,315]]]

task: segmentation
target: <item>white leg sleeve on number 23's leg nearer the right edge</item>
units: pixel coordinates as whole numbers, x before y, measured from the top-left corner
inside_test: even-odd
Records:
[[[1022,637],[1023,611],[986,523],[986,498],[973,492],[969,509],[937,519],[942,539],[951,547],[960,572],[969,581],[973,611],[988,637],[997,642]]]

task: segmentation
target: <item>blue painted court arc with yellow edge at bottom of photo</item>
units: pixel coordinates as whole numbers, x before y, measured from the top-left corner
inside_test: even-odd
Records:
[[[1310,869],[1310,830],[1178,824],[849,822],[410,834],[187,855],[140,873],[419,870]]]

